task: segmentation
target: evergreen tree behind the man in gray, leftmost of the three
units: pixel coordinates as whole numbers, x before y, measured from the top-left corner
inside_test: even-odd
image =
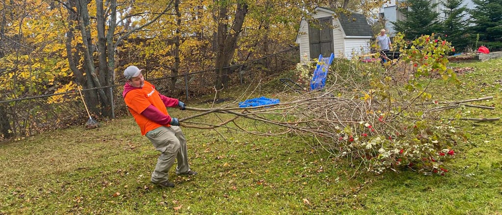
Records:
[[[391,22],[394,30],[405,34],[406,39],[414,39],[420,35],[429,35],[439,29],[439,13],[431,11],[438,4],[431,4],[428,0],[408,0],[407,7],[398,10],[406,17],[405,20]]]

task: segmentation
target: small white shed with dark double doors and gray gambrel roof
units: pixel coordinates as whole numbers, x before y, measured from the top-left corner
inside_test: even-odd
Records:
[[[313,22],[302,18],[296,37],[300,63],[318,58],[319,54],[334,53],[335,58],[350,59],[354,54],[369,53],[372,32],[362,14],[339,14],[334,18],[334,9],[317,7],[311,15]]]

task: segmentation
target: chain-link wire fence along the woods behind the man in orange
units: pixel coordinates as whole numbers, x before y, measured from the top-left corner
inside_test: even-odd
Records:
[[[230,71],[226,86],[246,85],[265,77],[278,75],[298,63],[298,58],[298,49],[291,48],[257,60],[224,68]],[[160,93],[173,98],[189,100],[214,93],[214,83],[218,78],[216,71],[217,69],[197,72],[181,71],[177,76],[149,79],[146,74],[146,77]],[[174,90],[170,87],[172,78],[176,78]],[[97,89],[105,89],[105,92],[112,95],[112,118],[128,114],[122,98],[123,83],[84,89],[82,92]],[[84,124],[88,118],[77,90],[0,101],[0,141]],[[105,120],[105,118],[95,115],[93,118],[98,121]]]

